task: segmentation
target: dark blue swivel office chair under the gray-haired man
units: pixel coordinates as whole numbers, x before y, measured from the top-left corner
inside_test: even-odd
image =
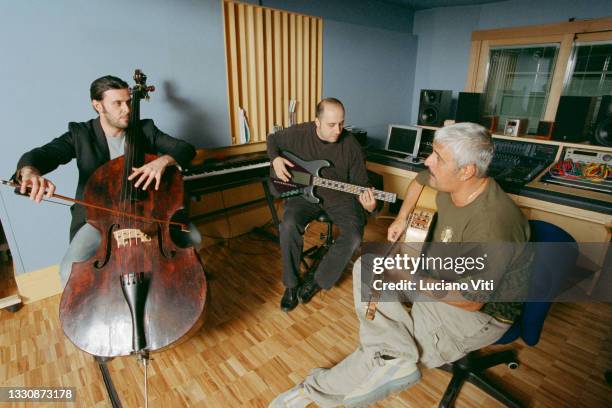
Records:
[[[540,340],[544,320],[555,296],[564,289],[567,278],[575,269],[578,258],[578,245],[574,238],[556,225],[544,221],[529,221],[532,242],[563,242],[563,251],[554,247],[538,247],[532,264],[530,299],[547,299],[550,301],[532,301],[523,305],[520,318],[508,329],[496,344],[508,344],[521,338],[525,344],[535,346]],[[519,366],[515,350],[505,350],[481,356],[477,351],[446,364],[440,369],[453,374],[444,392],[441,408],[454,406],[455,399],[465,381],[469,381],[487,394],[496,398],[508,407],[521,407],[512,396],[498,388],[484,373],[487,368],[506,364],[510,369]]]

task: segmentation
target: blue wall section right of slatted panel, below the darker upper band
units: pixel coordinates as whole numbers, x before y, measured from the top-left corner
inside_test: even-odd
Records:
[[[409,33],[325,24],[323,93],[344,101],[346,123],[383,147],[390,123],[410,122],[416,40]]]

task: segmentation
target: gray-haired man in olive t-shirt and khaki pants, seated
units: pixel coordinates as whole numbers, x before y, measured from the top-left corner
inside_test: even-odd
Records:
[[[519,208],[487,177],[493,142],[482,126],[460,123],[439,129],[427,171],[411,182],[396,220],[388,230],[396,241],[425,185],[438,191],[434,242],[524,243],[529,224]],[[518,247],[521,247],[519,245]],[[500,281],[524,282],[520,251],[496,263]],[[353,291],[360,329],[359,347],[329,369],[315,369],[271,407],[365,406],[418,382],[417,363],[438,367],[497,341],[518,317],[521,303],[495,303],[463,291],[432,293],[437,301],[416,301],[409,310],[400,302],[379,302],[374,320],[366,320],[361,294],[361,264],[353,268]],[[519,276],[520,275],[520,276]],[[419,277],[430,283],[435,277]]]

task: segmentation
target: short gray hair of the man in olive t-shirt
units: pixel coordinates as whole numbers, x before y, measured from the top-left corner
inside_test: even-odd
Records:
[[[493,160],[493,140],[484,127],[469,122],[445,126],[436,131],[434,142],[450,149],[458,169],[474,164],[476,176],[486,176]]]

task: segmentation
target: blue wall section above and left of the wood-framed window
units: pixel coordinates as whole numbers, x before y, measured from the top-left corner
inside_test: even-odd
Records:
[[[451,89],[455,99],[463,91],[472,31],[609,16],[610,0],[511,0],[415,12],[418,50],[412,122],[417,121],[421,89]]]

